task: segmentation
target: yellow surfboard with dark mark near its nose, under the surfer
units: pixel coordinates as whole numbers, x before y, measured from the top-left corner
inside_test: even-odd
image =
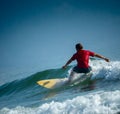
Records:
[[[84,81],[86,78],[90,77],[92,74],[87,73],[87,74],[75,74],[73,80],[69,85],[76,85],[82,81]],[[48,88],[48,89],[55,89],[64,86],[65,84],[68,84],[69,78],[58,78],[58,79],[47,79],[47,80],[40,80],[37,81],[37,84]]]

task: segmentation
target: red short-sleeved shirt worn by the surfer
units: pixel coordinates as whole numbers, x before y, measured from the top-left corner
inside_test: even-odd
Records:
[[[79,68],[88,68],[89,67],[89,56],[94,56],[94,52],[89,50],[79,50],[75,53],[71,59],[77,60],[77,66]]]

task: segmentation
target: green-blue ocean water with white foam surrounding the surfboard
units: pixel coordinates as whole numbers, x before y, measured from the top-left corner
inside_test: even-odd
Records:
[[[90,64],[91,80],[70,88],[50,90],[36,82],[67,77],[73,66],[5,81],[0,85],[0,114],[120,114],[120,61]]]

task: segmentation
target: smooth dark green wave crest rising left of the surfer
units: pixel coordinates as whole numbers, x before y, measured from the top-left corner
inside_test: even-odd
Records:
[[[9,95],[12,93],[17,93],[32,88],[36,86],[36,82],[38,80],[65,77],[66,72],[67,69],[65,71],[61,69],[45,70],[42,72],[35,73],[25,79],[14,80],[12,82],[6,83],[0,86],[0,97],[5,94]]]

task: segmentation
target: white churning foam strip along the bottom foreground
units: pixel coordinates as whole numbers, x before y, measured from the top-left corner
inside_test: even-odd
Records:
[[[115,114],[120,111],[119,106],[120,91],[101,91],[77,96],[64,102],[51,101],[34,108],[3,108],[0,114]]]

